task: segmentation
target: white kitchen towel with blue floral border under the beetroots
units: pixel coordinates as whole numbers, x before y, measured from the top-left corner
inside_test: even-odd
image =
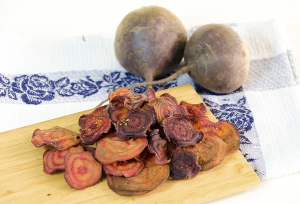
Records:
[[[154,89],[190,83],[217,119],[237,127],[240,151],[261,180],[297,172],[300,89],[284,24],[229,25],[250,53],[242,87],[214,94],[184,74]],[[188,35],[197,27],[189,28]],[[93,108],[113,89],[142,81],[117,63],[113,39],[0,37],[0,132]],[[145,87],[133,91],[142,93]]]

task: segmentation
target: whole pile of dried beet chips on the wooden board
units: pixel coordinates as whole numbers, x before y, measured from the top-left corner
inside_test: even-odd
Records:
[[[43,154],[46,174],[64,170],[70,187],[81,190],[104,172],[115,193],[144,195],[167,178],[192,179],[239,148],[236,128],[211,122],[203,103],[177,105],[173,96],[157,97],[153,89],[136,94],[117,88],[108,99],[108,105],[79,118],[79,135],[57,126],[34,131],[36,147],[54,148]]]

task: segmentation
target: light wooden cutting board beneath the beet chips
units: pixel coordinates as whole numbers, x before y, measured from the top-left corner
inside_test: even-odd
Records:
[[[166,92],[176,97],[178,102],[203,102],[190,85],[159,91],[157,95]],[[30,140],[37,128],[61,126],[78,132],[79,116],[90,111],[0,133],[0,203],[200,204],[259,184],[258,177],[241,153],[235,152],[227,155],[217,167],[200,172],[191,180],[167,180],[158,189],[143,196],[119,196],[107,187],[106,180],[81,191],[74,190],[64,181],[64,172],[53,175],[43,172],[42,155],[47,147],[35,148]],[[206,116],[217,121],[208,109]]]

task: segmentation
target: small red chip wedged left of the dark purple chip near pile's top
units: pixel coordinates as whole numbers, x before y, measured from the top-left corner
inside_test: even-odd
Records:
[[[111,105],[109,106],[107,111],[111,121],[114,124],[116,124],[118,120],[124,121],[128,109],[124,107],[123,103],[119,101],[115,101],[115,102],[111,102]]]

